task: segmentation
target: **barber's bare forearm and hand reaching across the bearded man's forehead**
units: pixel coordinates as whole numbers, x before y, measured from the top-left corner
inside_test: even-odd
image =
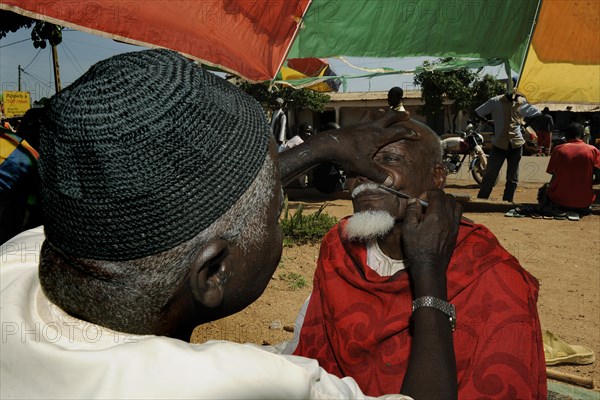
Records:
[[[388,143],[411,134],[399,125],[408,117],[405,112],[388,111],[371,121],[314,135],[279,155],[281,182],[285,185],[320,163],[333,162],[384,183],[388,174],[373,162],[373,155]]]

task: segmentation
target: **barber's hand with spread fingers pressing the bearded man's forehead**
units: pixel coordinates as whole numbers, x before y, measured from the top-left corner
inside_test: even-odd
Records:
[[[391,186],[391,177],[373,162],[373,156],[385,145],[414,135],[412,130],[400,124],[409,117],[407,112],[378,110],[356,125],[323,132],[321,140],[330,149],[332,161],[346,171]]]

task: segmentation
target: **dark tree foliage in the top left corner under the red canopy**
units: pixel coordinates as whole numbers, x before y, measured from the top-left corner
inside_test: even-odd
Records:
[[[33,47],[45,49],[46,42],[50,46],[56,46],[62,42],[62,27],[49,22],[38,21],[36,19],[24,17],[11,11],[0,10],[0,38],[5,37],[9,32],[16,32],[22,28],[31,28],[31,40]]]

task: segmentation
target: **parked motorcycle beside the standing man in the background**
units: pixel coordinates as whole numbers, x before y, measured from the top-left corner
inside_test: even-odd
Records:
[[[468,156],[469,172],[475,182],[481,185],[488,162],[488,156],[483,152],[482,146],[483,136],[472,123],[467,125],[464,132],[459,132],[458,136],[442,139],[442,162],[446,167],[446,174],[457,174]]]

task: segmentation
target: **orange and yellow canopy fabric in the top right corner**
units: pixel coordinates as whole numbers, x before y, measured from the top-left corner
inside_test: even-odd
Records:
[[[542,1],[519,91],[534,104],[600,104],[600,1]]]

